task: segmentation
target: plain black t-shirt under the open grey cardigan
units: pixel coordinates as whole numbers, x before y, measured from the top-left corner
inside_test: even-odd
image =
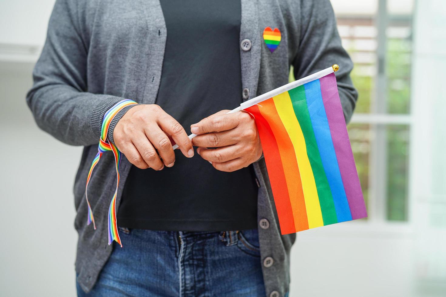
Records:
[[[161,0],[167,41],[157,104],[187,132],[190,125],[242,102],[240,0]],[[197,153],[175,150],[161,171],[132,166],[118,224],[164,231],[256,228],[257,183],[252,165],[218,171]]]

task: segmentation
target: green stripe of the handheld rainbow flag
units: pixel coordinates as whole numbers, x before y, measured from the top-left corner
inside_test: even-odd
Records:
[[[302,133],[305,138],[306,151],[310,159],[311,169],[313,170],[316,188],[318,190],[319,204],[321,205],[322,219],[324,225],[338,223],[336,216],[335,203],[331,195],[330,185],[322,166],[321,155],[318,149],[318,143],[314,136],[313,126],[311,124],[310,114],[305,97],[305,87],[298,86],[288,91],[291,102],[293,102],[294,114],[301,125]]]

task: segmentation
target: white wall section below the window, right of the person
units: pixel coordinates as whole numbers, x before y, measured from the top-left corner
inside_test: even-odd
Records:
[[[412,232],[342,223],[300,232],[292,250],[291,296],[417,296]]]

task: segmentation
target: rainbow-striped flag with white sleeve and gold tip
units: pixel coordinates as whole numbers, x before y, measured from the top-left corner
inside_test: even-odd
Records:
[[[338,68],[236,109],[256,120],[282,234],[367,216],[336,84]]]

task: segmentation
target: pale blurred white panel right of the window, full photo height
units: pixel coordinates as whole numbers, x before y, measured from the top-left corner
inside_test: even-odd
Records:
[[[419,1],[416,11],[411,191],[417,289],[446,296],[445,1]]]

